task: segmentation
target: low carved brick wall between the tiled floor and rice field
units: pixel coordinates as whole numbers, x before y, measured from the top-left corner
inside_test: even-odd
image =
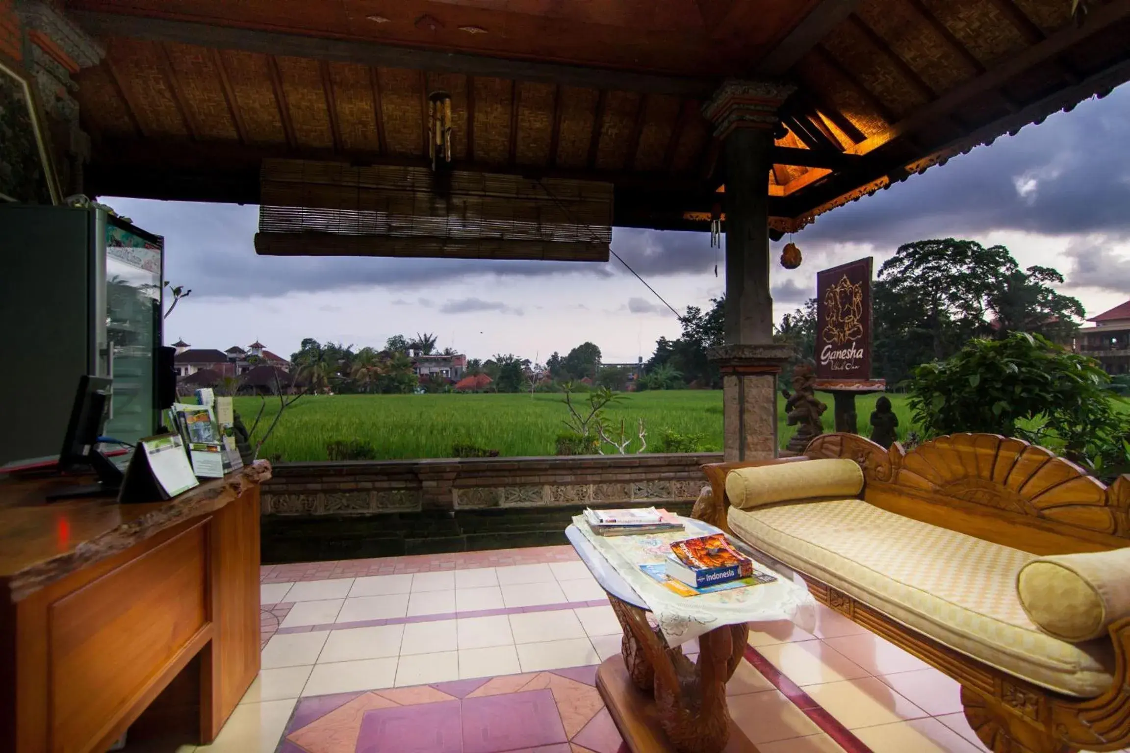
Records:
[[[263,515],[663,505],[694,501],[721,454],[280,463]]]

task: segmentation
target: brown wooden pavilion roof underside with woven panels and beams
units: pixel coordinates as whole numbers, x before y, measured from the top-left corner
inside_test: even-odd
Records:
[[[264,158],[602,181],[614,224],[706,229],[725,175],[703,104],[782,78],[771,227],[1130,79],[1130,0],[64,0],[106,46],[77,76],[88,192],[258,203]]]

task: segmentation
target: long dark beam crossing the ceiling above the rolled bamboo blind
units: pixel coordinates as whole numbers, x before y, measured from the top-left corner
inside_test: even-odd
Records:
[[[284,34],[194,21],[148,18],[123,14],[70,10],[84,28],[99,37],[125,36],[151,42],[181,42],[220,50],[244,50],[266,55],[290,55],[386,68],[426,70],[488,78],[563,84],[590,89],[705,97],[713,94],[713,79],[636,73],[610,68],[590,68],[489,55],[447,53],[376,42],[354,42],[301,34]]]

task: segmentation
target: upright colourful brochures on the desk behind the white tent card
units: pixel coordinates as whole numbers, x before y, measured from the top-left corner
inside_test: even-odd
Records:
[[[211,389],[198,391],[197,399],[199,404],[173,403],[168,426],[181,435],[192,472],[199,478],[218,479],[243,467],[232,428],[232,399],[215,397]]]

